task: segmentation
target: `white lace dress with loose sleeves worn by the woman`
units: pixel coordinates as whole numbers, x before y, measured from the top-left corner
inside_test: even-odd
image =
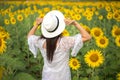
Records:
[[[69,68],[69,53],[72,49],[71,55],[76,56],[80,48],[83,46],[80,34],[72,37],[62,37],[59,39],[57,48],[55,50],[53,61],[49,63],[46,56],[46,49],[43,48],[45,39],[40,36],[31,35],[28,38],[28,45],[34,57],[37,56],[38,49],[44,59],[44,66],[42,71],[42,80],[71,80],[71,73]]]

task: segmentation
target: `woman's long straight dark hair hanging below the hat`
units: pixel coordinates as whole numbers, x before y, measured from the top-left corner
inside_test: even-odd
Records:
[[[53,38],[46,38],[43,35],[41,35],[41,38],[46,39],[47,59],[50,62],[52,62],[53,60],[53,55],[54,55],[59,37],[61,37],[61,34]]]

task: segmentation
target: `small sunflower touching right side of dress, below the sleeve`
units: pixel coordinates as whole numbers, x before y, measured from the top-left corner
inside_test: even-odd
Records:
[[[80,68],[80,62],[76,58],[71,58],[70,61],[69,61],[69,66],[73,70],[77,70],[78,68]]]

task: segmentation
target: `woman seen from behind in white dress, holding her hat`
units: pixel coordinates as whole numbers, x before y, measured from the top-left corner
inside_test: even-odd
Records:
[[[34,35],[39,24],[41,24],[41,37]],[[74,25],[80,33],[71,37],[61,36],[65,25]],[[43,19],[38,18],[36,25],[28,33],[28,44],[34,57],[37,56],[38,49],[43,56],[42,80],[71,80],[68,65],[70,50],[72,49],[71,55],[76,56],[83,42],[90,39],[91,36],[79,23],[65,19],[57,10],[48,12]]]

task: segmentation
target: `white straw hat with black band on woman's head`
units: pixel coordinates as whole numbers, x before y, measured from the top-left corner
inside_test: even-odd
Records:
[[[64,15],[58,11],[53,10],[48,12],[41,24],[42,35],[46,38],[53,38],[58,36],[65,29]]]

